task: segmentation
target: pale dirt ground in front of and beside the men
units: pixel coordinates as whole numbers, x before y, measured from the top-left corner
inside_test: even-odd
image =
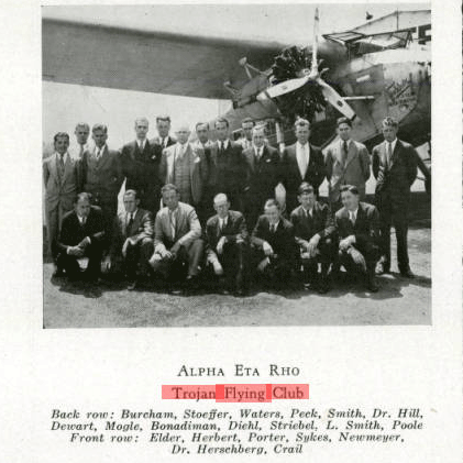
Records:
[[[418,183],[417,183],[418,184]],[[417,185],[416,184],[416,185]],[[44,264],[44,328],[243,327],[430,324],[431,206],[420,184],[414,186],[409,255],[415,279],[400,277],[393,250],[393,273],[378,277],[377,294],[341,283],[319,295],[305,289],[268,293],[254,288],[244,298],[211,293],[194,296],[155,290],[128,291],[123,284],[88,288],[52,278]],[[395,236],[392,242],[395,245]]]

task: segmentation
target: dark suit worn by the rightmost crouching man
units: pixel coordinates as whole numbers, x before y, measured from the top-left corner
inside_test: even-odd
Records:
[[[379,257],[377,245],[379,214],[377,209],[367,202],[359,202],[355,224],[351,222],[349,210],[345,208],[340,209],[335,213],[334,221],[340,240],[351,235],[355,236],[355,243],[352,246],[362,253],[366,263],[366,273],[370,277],[373,277],[375,265]],[[348,252],[340,251],[340,261],[348,272],[354,269],[354,263],[349,250]]]

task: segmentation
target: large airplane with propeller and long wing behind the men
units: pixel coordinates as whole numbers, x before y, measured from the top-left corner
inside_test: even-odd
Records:
[[[313,24],[312,44],[299,47],[44,16],[43,79],[231,99],[221,115],[235,136],[252,118],[280,148],[295,141],[298,117],[311,121],[311,142],[327,146],[340,115],[352,120],[353,137],[368,148],[382,140],[386,115],[399,121],[400,137],[430,145],[431,11],[397,10],[320,37],[316,8]],[[429,162],[419,158],[427,190]]]

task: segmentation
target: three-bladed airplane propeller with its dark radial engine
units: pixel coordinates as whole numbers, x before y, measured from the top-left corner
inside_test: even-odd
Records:
[[[313,23],[313,46],[310,66],[308,58],[301,48],[296,46],[285,48],[279,56],[275,58],[273,65],[273,82],[267,89],[257,95],[257,100],[279,99],[294,93],[287,109],[297,110],[297,106],[302,107],[302,113],[313,115],[315,111],[324,106],[328,101],[339,112],[349,119],[355,117],[354,110],[345,102],[334,88],[327,84],[321,76],[328,69],[319,70],[322,60],[318,60],[318,35],[319,35],[319,14],[318,8],[315,13]],[[318,87],[318,88],[317,88]],[[297,91],[300,90],[300,91]],[[305,95],[298,95],[304,92]],[[299,108],[300,110],[300,108]]]

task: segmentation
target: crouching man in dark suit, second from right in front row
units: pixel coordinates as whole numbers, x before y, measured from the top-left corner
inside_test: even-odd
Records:
[[[302,183],[298,190],[297,207],[290,214],[299,245],[305,276],[320,294],[330,289],[328,271],[334,260],[334,221],[328,205],[317,201],[313,187]],[[318,264],[321,263],[321,273]]]

